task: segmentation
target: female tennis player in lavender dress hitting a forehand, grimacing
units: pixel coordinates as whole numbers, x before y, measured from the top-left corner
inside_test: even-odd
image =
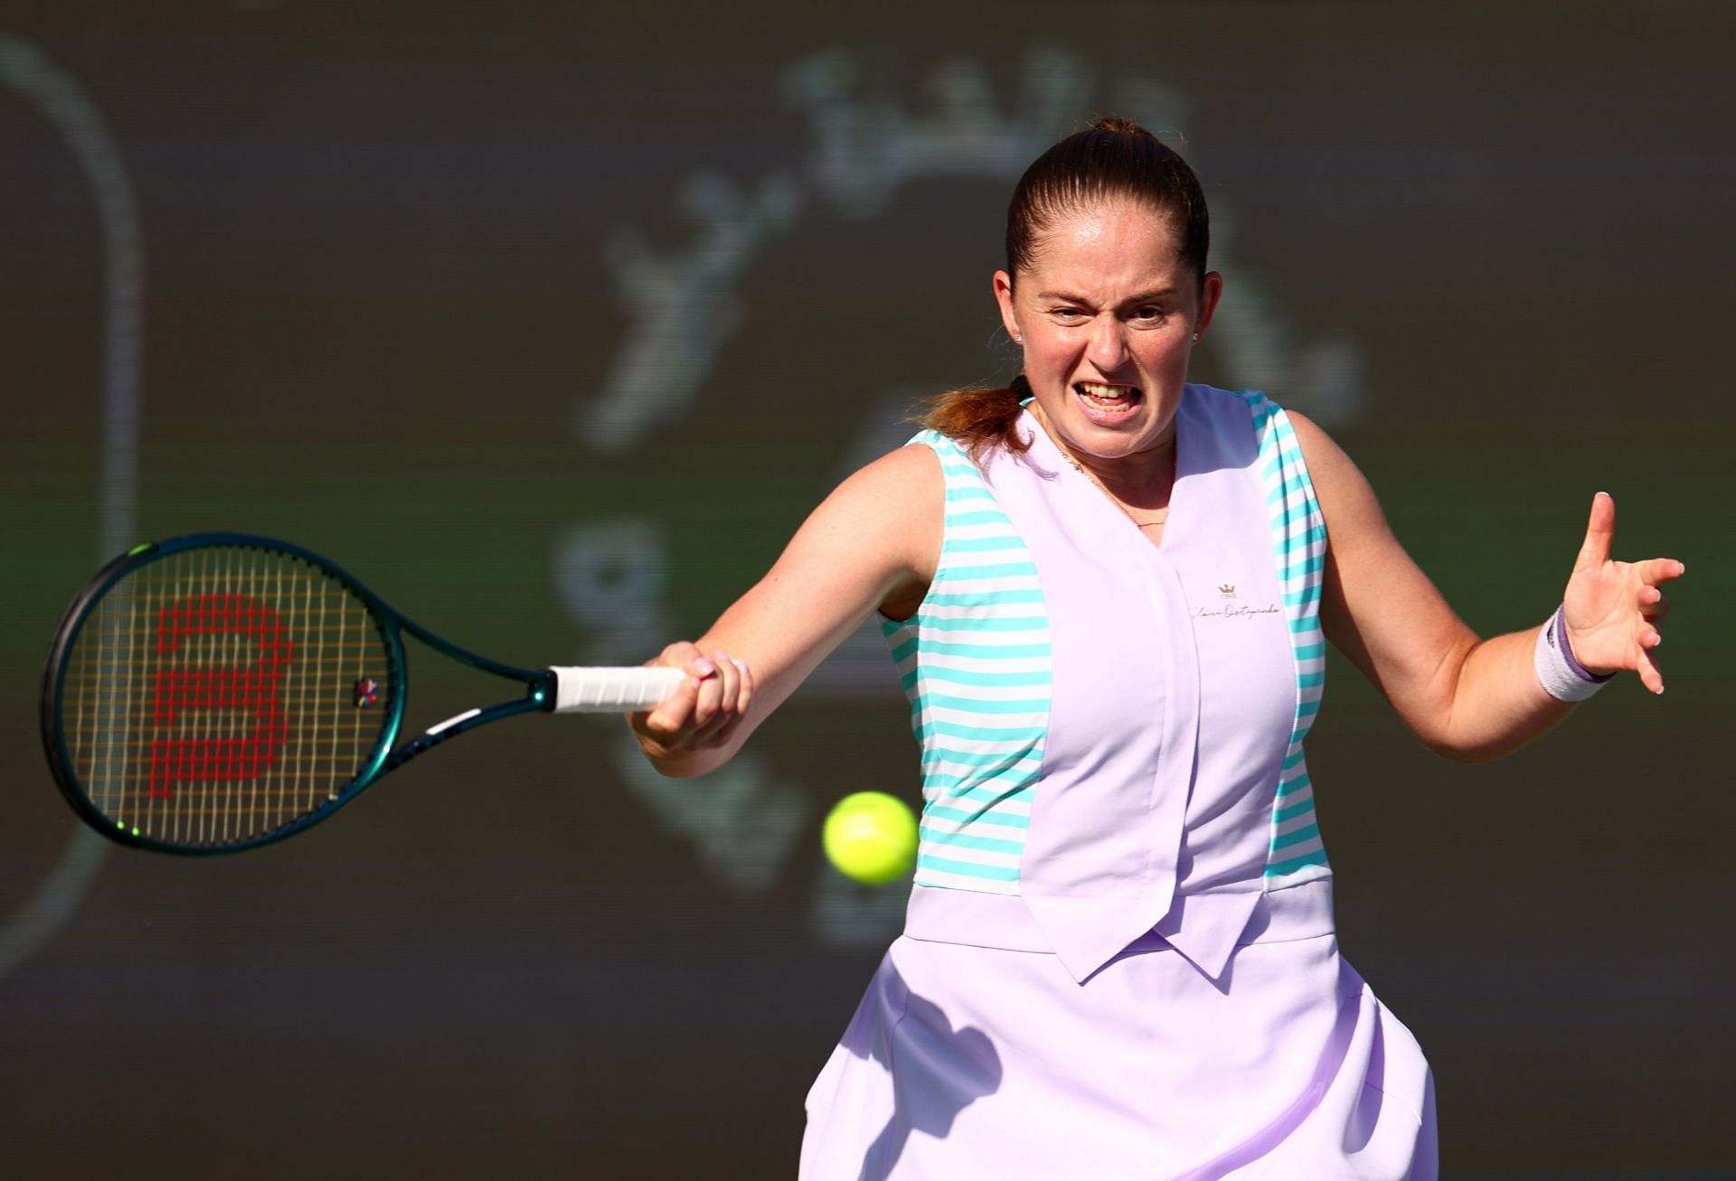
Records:
[[[1332,642],[1436,751],[1663,692],[1670,558],[1599,493],[1559,607],[1479,640],[1307,418],[1187,383],[1200,182],[1101,120],[1024,173],[1003,390],[845,480],[632,727],[724,763],[878,614],[925,808],[904,935],[807,1098],[804,1181],[1436,1176],[1429,1065],[1338,956],[1304,739]]]

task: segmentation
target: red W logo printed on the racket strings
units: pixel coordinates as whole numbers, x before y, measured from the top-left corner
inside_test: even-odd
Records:
[[[252,640],[253,662],[158,669],[153,721],[158,730],[167,730],[186,709],[222,711],[241,714],[226,727],[231,734],[247,734],[156,739],[151,742],[153,796],[172,796],[174,784],[252,779],[278,763],[278,751],[288,737],[278,685],[295,659],[295,642],[278,612],[247,595],[194,595],[156,614],[158,659],[179,652],[187,636],[226,635]]]

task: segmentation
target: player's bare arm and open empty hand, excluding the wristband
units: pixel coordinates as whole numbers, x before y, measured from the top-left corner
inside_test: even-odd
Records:
[[[1489,760],[1566,718],[1573,706],[1543,692],[1533,669],[1538,628],[1481,640],[1404,553],[1351,458],[1302,414],[1290,420],[1326,517],[1326,638],[1417,737],[1451,758]],[[1661,694],[1653,654],[1665,612],[1660,583],[1684,567],[1674,558],[1611,562],[1613,536],[1614,501],[1599,493],[1564,595],[1568,636],[1590,671],[1635,669]]]

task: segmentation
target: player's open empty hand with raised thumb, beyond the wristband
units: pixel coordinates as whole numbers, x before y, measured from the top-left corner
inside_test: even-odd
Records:
[[[1588,671],[1632,669],[1646,688],[1661,694],[1658,645],[1663,635],[1658,626],[1670,605],[1663,583],[1680,577],[1687,567],[1675,558],[1611,562],[1609,543],[1614,536],[1616,503],[1609,493],[1599,493],[1592,499],[1585,545],[1562,597],[1568,643]]]

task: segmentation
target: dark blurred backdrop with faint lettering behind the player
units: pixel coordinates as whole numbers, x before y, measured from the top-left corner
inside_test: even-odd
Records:
[[[911,399],[1010,375],[1007,194],[1116,111],[1213,203],[1196,378],[1328,425],[1472,626],[1552,610],[1597,489],[1687,562],[1661,701],[1462,767],[1338,664],[1309,749],[1448,1174],[1736,1174],[1733,47],[1726,3],[0,0],[3,1171],[793,1176],[901,917],[818,841],[917,794],[877,635],[712,780],[526,720],[198,862],[75,829],[42,657],[203,529],[516,662],[696,635]],[[493,692],[443,664],[415,721]]]

